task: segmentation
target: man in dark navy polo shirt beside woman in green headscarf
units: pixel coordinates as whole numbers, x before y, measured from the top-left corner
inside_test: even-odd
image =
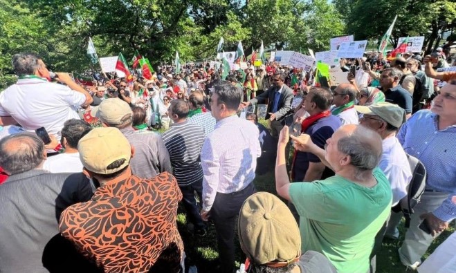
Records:
[[[412,95],[399,84],[401,77],[401,70],[386,68],[381,73],[380,84],[385,94],[385,102],[401,106],[408,118],[412,115]]]

